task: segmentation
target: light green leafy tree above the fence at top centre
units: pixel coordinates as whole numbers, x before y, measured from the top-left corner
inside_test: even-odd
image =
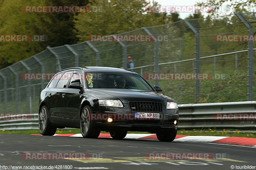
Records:
[[[75,33],[80,41],[87,35],[124,33],[147,26],[164,24],[164,14],[146,13],[145,0],[95,0],[92,6],[101,6],[100,12],[79,13],[75,17]]]

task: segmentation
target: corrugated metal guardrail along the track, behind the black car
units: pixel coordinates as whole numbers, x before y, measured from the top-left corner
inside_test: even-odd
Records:
[[[179,129],[256,129],[256,101],[178,106]],[[0,130],[22,129],[38,129],[38,114],[31,114],[30,120],[0,121]]]

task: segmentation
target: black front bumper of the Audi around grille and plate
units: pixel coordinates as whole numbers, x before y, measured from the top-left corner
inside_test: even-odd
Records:
[[[94,120],[95,128],[100,131],[125,130],[156,133],[164,130],[177,130],[179,123],[179,109],[166,109],[166,105],[163,106],[159,119],[136,119],[134,118],[134,111],[130,110],[128,104],[124,104],[124,107],[101,106],[100,113],[117,115],[112,122],[108,122],[106,116],[104,120]],[[119,118],[118,115],[120,115]],[[176,124],[174,124],[175,120],[177,121]]]

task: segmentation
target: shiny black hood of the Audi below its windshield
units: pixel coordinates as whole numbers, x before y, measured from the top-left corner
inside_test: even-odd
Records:
[[[168,101],[174,101],[163,94],[137,89],[90,89],[90,91],[98,99],[120,99],[123,103],[128,103],[128,100],[145,100],[145,101],[160,101],[164,105]],[[98,95],[97,95],[98,94]],[[167,98],[166,98],[167,97]]]

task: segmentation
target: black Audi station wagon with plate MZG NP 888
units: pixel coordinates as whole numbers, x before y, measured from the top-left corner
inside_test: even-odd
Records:
[[[179,109],[162,88],[133,72],[111,67],[74,67],[55,74],[39,100],[39,130],[79,128],[83,137],[100,131],[122,139],[127,131],[156,133],[171,142],[177,134]]]

